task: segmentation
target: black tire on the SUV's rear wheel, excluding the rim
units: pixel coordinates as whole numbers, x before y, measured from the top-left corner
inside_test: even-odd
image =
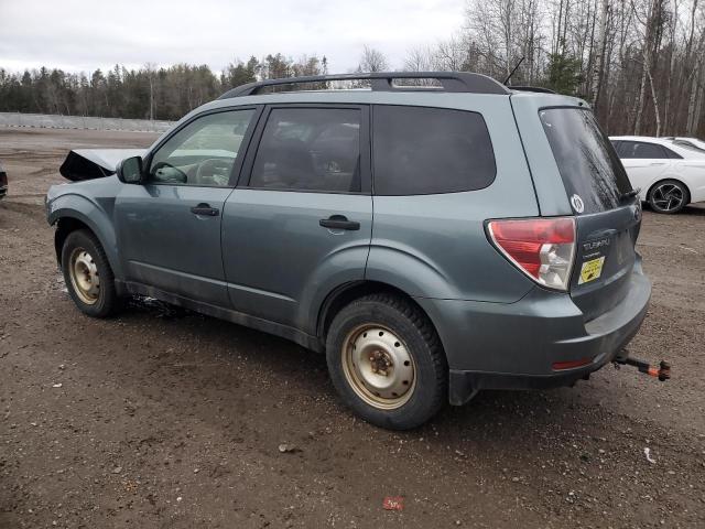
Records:
[[[411,395],[405,396],[408,400],[398,408],[379,409],[370,404],[360,397],[360,390],[355,389],[355,382],[346,375],[344,346],[349,343],[351,333],[367,328],[367,325],[389,330],[392,336],[403,341],[405,354],[412,357],[415,371],[412,388],[408,390]],[[447,402],[448,367],[441,341],[427,316],[399,295],[370,294],[345,306],[328,330],[326,359],[330,379],[343,401],[378,427],[390,430],[420,427]]]

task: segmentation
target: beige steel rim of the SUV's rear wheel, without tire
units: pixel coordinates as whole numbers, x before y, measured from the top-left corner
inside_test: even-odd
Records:
[[[404,406],[416,387],[416,366],[404,342],[383,325],[354,328],[343,344],[343,371],[355,393],[379,410]]]

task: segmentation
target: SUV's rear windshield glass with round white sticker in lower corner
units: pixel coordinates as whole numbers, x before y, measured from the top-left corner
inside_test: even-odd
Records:
[[[550,108],[541,110],[539,117],[575,213],[619,206],[620,196],[631,191],[631,184],[595,115],[581,108]],[[576,202],[582,202],[583,212],[576,208]]]

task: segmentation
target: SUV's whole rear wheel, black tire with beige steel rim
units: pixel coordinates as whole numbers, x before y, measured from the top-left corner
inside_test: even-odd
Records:
[[[372,294],[344,307],[330,324],[326,357],[344,402],[378,427],[416,428],[447,399],[438,336],[403,298]]]

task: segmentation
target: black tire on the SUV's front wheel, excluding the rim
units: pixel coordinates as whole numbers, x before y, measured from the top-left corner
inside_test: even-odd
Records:
[[[87,259],[95,264],[96,276],[99,278],[97,294],[95,294],[93,302],[85,301],[86,294],[80,293],[80,288],[72,279],[72,257],[74,252],[79,252],[80,250],[87,252]],[[116,292],[112,269],[102,246],[100,246],[93,233],[86,229],[78,229],[68,234],[62,247],[62,271],[68,294],[84,314],[93,317],[108,317],[117,313],[121,307],[122,300]]]

